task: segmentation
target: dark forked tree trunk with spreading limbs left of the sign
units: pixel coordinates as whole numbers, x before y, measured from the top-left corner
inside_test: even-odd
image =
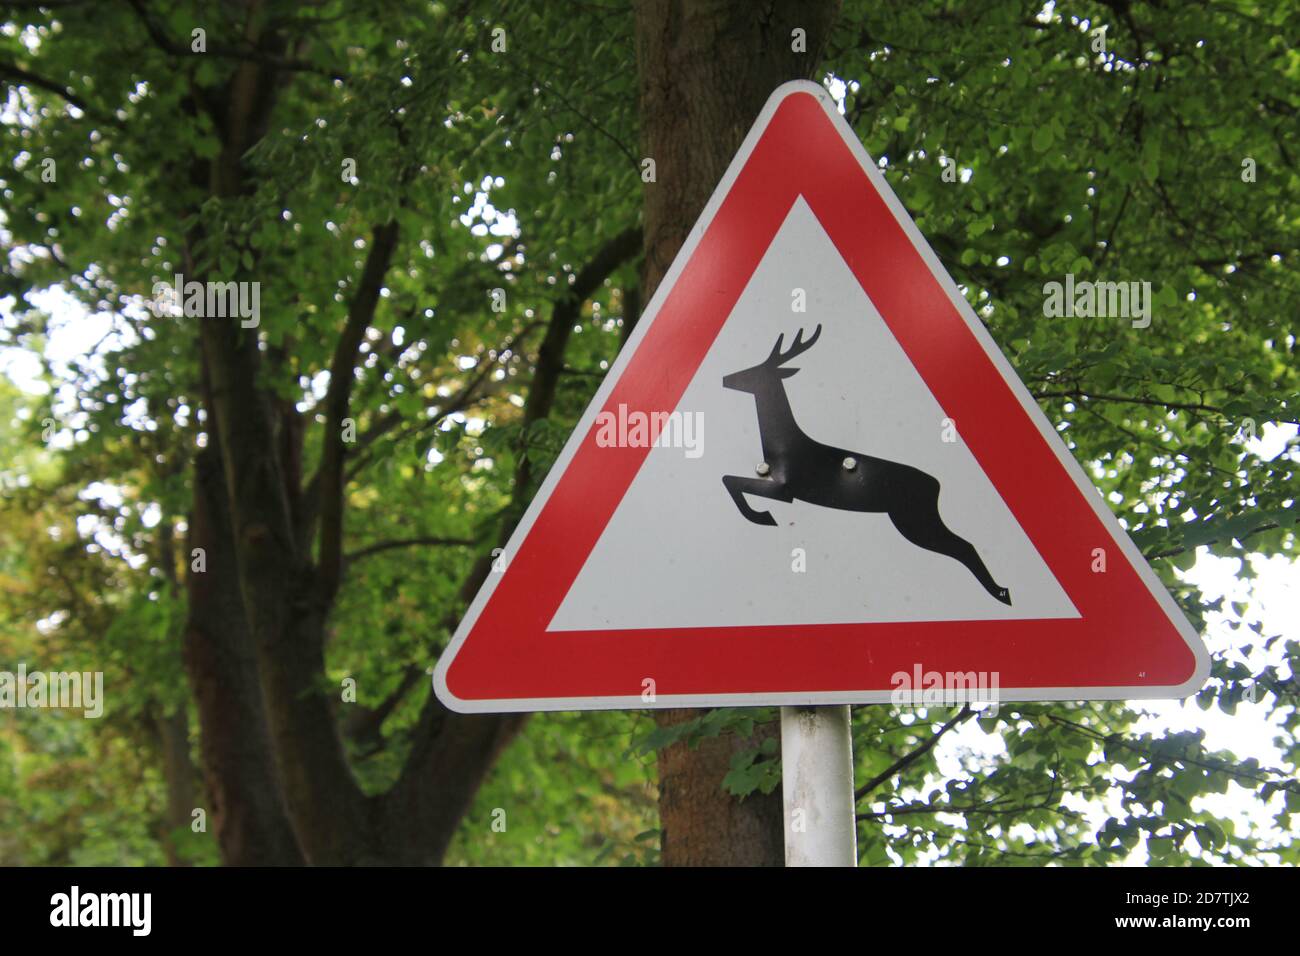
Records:
[[[252,193],[255,169],[244,157],[265,134],[285,79],[274,57],[286,40],[250,30],[250,46],[269,59],[240,61],[224,96],[203,100],[217,121],[222,148],[211,164],[199,156],[188,164],[191,182],[224,199]],[[186,235],[187,277],[254,278],[256,255],[247,248],[240,252],[254,255],[252,267],[204,274],[192,256],[207,238],[200,229],[195,225]],[[368,796],[339,734],[338,689],[322,683],[325,624],[344,571],[348,449],[341,425],[398,239],[393,221],[373,229],[330,363],[321,463],[306,485],[302,421],[265,386],[264,364],[277,360],[276,351],[264,354],[259,333],[238,323],[198,321],[208,449],[196,466],[192,544],[205,548],[207,570],[190,576],[186,658],[226,862],[439,862],[489,767],[524,721],[515,714],[452,714],[430,688],[398,782],[386,793]],[[525,424],[550,411],[568,333],[584,300],[637,252],[640,239],[636,230],[612,237],[554,306]],[[519,510],[530,492],[524,466],[516,475]],[[467,581],[467,602],[486,572],[484,563]]]

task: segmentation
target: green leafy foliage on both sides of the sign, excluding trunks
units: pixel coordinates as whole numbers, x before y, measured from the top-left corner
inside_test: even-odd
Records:
[[[551,414],[525,427],[543,323],[641,207],[624,5],[269,3],[299,52],[235,194],[212,189],[221,130],[196,104],[240,59],[178,56],[159,35],[187,46],[202,25],[229,48],[242,8],[148,8],[150,21],[133,4],[31,7],[0,33],[0,345],[44,382],[0,381],[0,669],[103,670],[108,687],[99,722],[0,714],[0,862],[217,860],[211,832],[169,818],[160,757],[160,721],[179,711],[198,779],[178,581],[203,385],[195,320],[143,307],[155,282],[261,284],[266,385],[303,414],[311,475],[347,302],[374,226],[400,226],[355,376],[350,414],[370,438],[350,459],[352,559],[320,675],[332,692],[356,680],[343,723],[396,698],[380,732],[347,737],[368,792],[398,774],[462,584],[517,516],[516,468],[538,481],[554,462],[618,354],[636,284],[628,264],[584,303]],[[495,25],[508,55],[490,48]],[[1226,620],[1232,646],[1197,704],[1258,698],[1284,756],[1265,767],[1199,732],[1152,735],[1123,704],[1004,705],[949,731],[984,749],[953,757],[944,740],[863,795],[864,864],[1296,861],[1295,635],[1265,633],[1178,570],[1197,553],[1294,554],[1296,442],[1264,457],[1245,436],[1294,427],[1300,402],[1297,27],[1290,3],[844,5],[824,65],[854,129],[1188,615]],[[1045,319],[1043,286],[1066,272],[1149,281],[1150,326]],[[368,550],[404,538],[443,544]],[[1262,670],[1256,652],[1271,656]],[[668,730],[644,714],[536,717],[448,862],[654,865],[650,753],[774,717],[716,710]],[[954,717],[858,708],[859,786]],[[724,786],[779,779],[768,740]],[[1275,832],[1212,812],[1225,793]]]

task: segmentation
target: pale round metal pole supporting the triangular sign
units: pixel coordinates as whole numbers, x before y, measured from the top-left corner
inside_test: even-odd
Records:
[[[786,866],[857,866],[849,706],[781,708]]]

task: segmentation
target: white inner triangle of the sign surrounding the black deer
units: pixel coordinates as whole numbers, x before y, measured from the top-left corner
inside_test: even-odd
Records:
[[[984,557],[1010,606],[953,558],[909,542],[887,514],[754,498],[776,518],[766,527],[732,503],[723,475],[757,476],[763,451],[754,395],[723,377],[816,326],[814,347],[789,363],[800,371],[783,380],[800,428],[937,479],[944,523]],[[940,407],[802,199],[677,412],[690,444],[650,450],[550,630],[1078,617],[961,441],[961,420]]]

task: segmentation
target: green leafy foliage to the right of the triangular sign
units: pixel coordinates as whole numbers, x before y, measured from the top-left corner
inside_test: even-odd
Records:
[[[1222,610],[1174,574],[1197,548],[1294,553],[1295,440],[1265,459],[1245,437],[1294,425],[1300,405],[1300,60],[1282,40],[1297,17],[1292,4],[1058,4],[1050,16],[980,4],[961,17],[850,4],[829,62],[890,185],[1197,622]],[[1245,157],[1256,182],[1243,181]],[[1066,272],[1149,281],[1150,326],[1044,317],[1043,285]],[[1227,710],[1254,682],[1278,688],[1268,700],[1292,763],[1273,770],[1206,754],[1195,735],[1135,734],[1122,704],[1004,705],[979,722],[1004,757],[968,754],[950,777],[931,750],[866,797],[863,862],[1104,864],[1139,844],[1164,864],[1265,849],[1294,861],[1290,839],[1232,832],[1202,797],[1230,782],[1254,790],[1295,832],[1270,796],[1294,787],[1295,672],[1283,659],[1252,674],[1219,652],[1200,696]],[[859,783],[952,714],[913,717],[858,709]]]

